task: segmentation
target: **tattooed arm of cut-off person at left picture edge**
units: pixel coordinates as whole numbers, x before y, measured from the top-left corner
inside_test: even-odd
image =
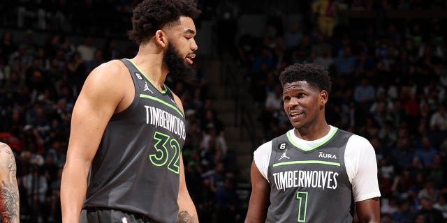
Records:
[[[3,223],[18,223],[20,220],[16,171],[13,151],[0,142],[0,222]]]

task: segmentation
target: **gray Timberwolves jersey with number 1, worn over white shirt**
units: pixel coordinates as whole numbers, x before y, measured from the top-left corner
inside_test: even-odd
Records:
[[[272,140],[266,222],[353,221],[353,195],[344,165],[351,135],[337,129],[327,141],[307,151],[288,134]]]

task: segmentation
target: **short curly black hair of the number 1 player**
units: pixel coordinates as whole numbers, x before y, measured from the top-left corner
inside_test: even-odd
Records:
[[[330,93],[331,80],[328,70],[316,63],[294,63],[286,67],[279,75],[281,86],[286,83],[306,81],[311,86],[315,86],[319,91]]]

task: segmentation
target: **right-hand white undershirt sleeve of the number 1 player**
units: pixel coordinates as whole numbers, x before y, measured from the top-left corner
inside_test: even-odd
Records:
[[[354,201],[380,197],[376,153],[369,141],[356,134],[351,136],[346,144],[344,160]]]

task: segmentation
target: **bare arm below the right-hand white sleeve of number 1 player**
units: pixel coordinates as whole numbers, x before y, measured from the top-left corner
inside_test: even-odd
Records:
[[[379,223],[379,197],[356,202],[357,217],[360,223]]]

